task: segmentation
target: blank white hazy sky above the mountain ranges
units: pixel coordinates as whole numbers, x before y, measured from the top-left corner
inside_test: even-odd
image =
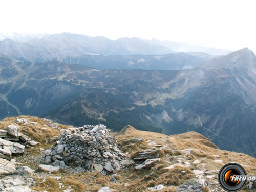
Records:
[[[256,1],[1,1],[2,33],[156,38],[256,50]]]

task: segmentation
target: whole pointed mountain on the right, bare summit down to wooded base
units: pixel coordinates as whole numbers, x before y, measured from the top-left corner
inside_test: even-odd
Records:
[[[251,154],[256,136],[255,61],[252,51],[242,49],[181,71],[162,86],[176,98],[167,103],[177,119],[189,124],[197,121],[199,132],[220,148],[231,149],[232,145],[236,151]]]

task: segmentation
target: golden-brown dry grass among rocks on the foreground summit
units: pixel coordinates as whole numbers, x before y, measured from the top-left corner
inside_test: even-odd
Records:
[[[28,155],[40,154],[39,148],[41,147],[48,149],[50,147],[49,139],[54,135],[60,134],[58,130],[50,127],[48,127],[49,130],[47,131],[40,129],[41,127],[45,127],[44,125],[46,123],[42,119],[39,119],[37,117],[22,116],[19,118],[26,118],[29,121],[35,121],[38,123],[38,125],[18,125],[14,122],[16,118],[12,117],[4,119],[2,121],[2,124],[0,124],[0,128],[5,129],[6,126],[9,124],[17,125],[20,127],[20,132],[43,144],[41,146],[29,149]],[[63,125],[59,126],[61,127]],[[63,128],[67,128],[67,126],[63,126]],[[111,183],[111,175],[101,175],[97,172],[71,174],[67,171],[62,170],[58,173],[51,174],[51,176],[61,176],[62,178],[60,179],[60,181],[56,181],[56,179],[50,177],[43,181],[43,178],[41,178],[38,179],[37,185],[35,187],[32,187],[32,189],[39,192],[45,190],[49,192],[60,192],[66,190],[68,187],[71,187],[74,189],[73,191],[96,192],[101,187],[108,186],[111,190],[115,191],[137,192],[146,191],[147,187],[154,187],[156,185],[162,184],[166,188],[161,191],[174,192],[174,186],[178,186],[185,181],[195,177],[193,172],[191,171],[192,169],[195,169],[195,166],[191,166],[190,169],[187,167],[179,166],[175,166],[173,169],[166,169],[166,167],[171,164],[170,159],[172,159],[173,156],[178,155],[180,155],[184,159],[189,155],[189,161],[193,161],[195,159],[201,160],[201,163],[205,163],[206,170],[219,170],[223,165],[214,162],[214,160],[216,160],[216,157],[214,157],[214,155],[218,155],[220,156],[220,159],[223,161],[224,164],[231,161],[237,162],[244,166],[247,175],[256,174],[256,159],[242,153],[219,150],[218,147],[216,147],[207,138],[196,132],[188,132],[167,137],[164,134],[138,131],[131,126],[127,126],[120,133],[116,134],[116,138],[119,140],[121,146],[122,141],[129,139],[132,140],[138,137],[143,137],[144,140],[135,143],[129,143],[125,141],[126,143],[123,146],[125,152],[129,152],[130,154],[132,153],[132,157],[136,155],[140,150],[152,148],[152,146],[148,146],[148,142],[146,142],[147,140],[151,140],[156,143],[162,143],[163,146],[167,146],[167,149],[159,148],[155,150],[155,153],[158,153],[159,157],[162,158],[162,162],[155,164],[153,175],[150,175],[150,173],[152,173],[153,171],[153,167],[151,169],[135,171],[133,169],[133,166],[131,166],[129,168],[122,169],[116,172],[116,174],[118,174],[118,182]],[[194,150],[192,150],[190,154],[184,155],[181,150],[188,148],[192,148]],[[176,153],[173,153],[171,149],[176,149],[178,151]],[[17,159],[19,161],[18,157]],[[30,162],[24,161],[22,165],[27,165],[26,163],[34,169],[36,168],[36,166],[38,166],[36,162],[33,162],[32,160]],[[185,171],[185,173],[183,173],[182,171]],[[59,188],[59,182],[63,183],[65,187]],[[129,186],[124,186],[125,183],[129,183]],[[207,187],[205,187],[202,188],[202,191],[208,192],[209,190]]]

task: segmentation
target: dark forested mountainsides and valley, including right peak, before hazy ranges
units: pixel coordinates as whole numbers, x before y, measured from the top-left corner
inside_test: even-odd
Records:
[[[115,131],[126,125],[165,134],[197,131],[221,149],[256,156],[255,55],[248,49],[182,71],[97,70],[3,55],[0,61],[2,118],[27,114]]]

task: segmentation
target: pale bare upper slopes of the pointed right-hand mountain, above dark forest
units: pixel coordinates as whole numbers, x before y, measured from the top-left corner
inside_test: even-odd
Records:
[[[246,103],[256,104],[256,56],[245,48],[220,56],[198,65],[197,68],[181,71],[167,86],[172,92],[183,94],[197,86],[208,86],[209,82],[218,85],[230,84],[230,93],[240,95]],[[179,82],[182,82],[181,84]]]

